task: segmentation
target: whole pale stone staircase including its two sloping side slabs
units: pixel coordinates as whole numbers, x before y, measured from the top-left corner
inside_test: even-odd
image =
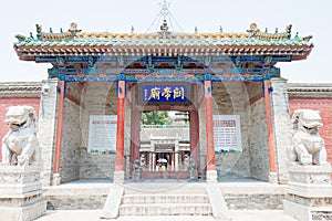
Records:
[[[206,185],[114,186],[104,206],[102,219],[132,215],[197,215],[228,218],[228,208],[218,188]],[[227,219],[222,219],[227,220]]]

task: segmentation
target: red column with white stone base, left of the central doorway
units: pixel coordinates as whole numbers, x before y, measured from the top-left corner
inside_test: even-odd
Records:
[[[124,120],[125,120],[125,81],[117,83],[117,127],[114,182],[124,182]]]

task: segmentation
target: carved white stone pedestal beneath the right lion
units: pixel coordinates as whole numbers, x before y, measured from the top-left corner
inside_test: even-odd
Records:
[[[301,221],[332,217],[330,172],[330,165],[290,166],[288,194],[283,201],[284,213]]]

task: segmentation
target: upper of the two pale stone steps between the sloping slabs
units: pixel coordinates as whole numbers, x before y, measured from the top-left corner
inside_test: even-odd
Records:
[[[123,204],[127,203],[209,203],[207,194],[125,194]]]

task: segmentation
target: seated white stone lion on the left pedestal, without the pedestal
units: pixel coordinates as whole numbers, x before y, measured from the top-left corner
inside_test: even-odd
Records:
[[[2,138],[2,162],[20,166],[39,164],[41,150],[35,136],[37,122],[33,107],[8,107],[4,122],[10,129]]]

